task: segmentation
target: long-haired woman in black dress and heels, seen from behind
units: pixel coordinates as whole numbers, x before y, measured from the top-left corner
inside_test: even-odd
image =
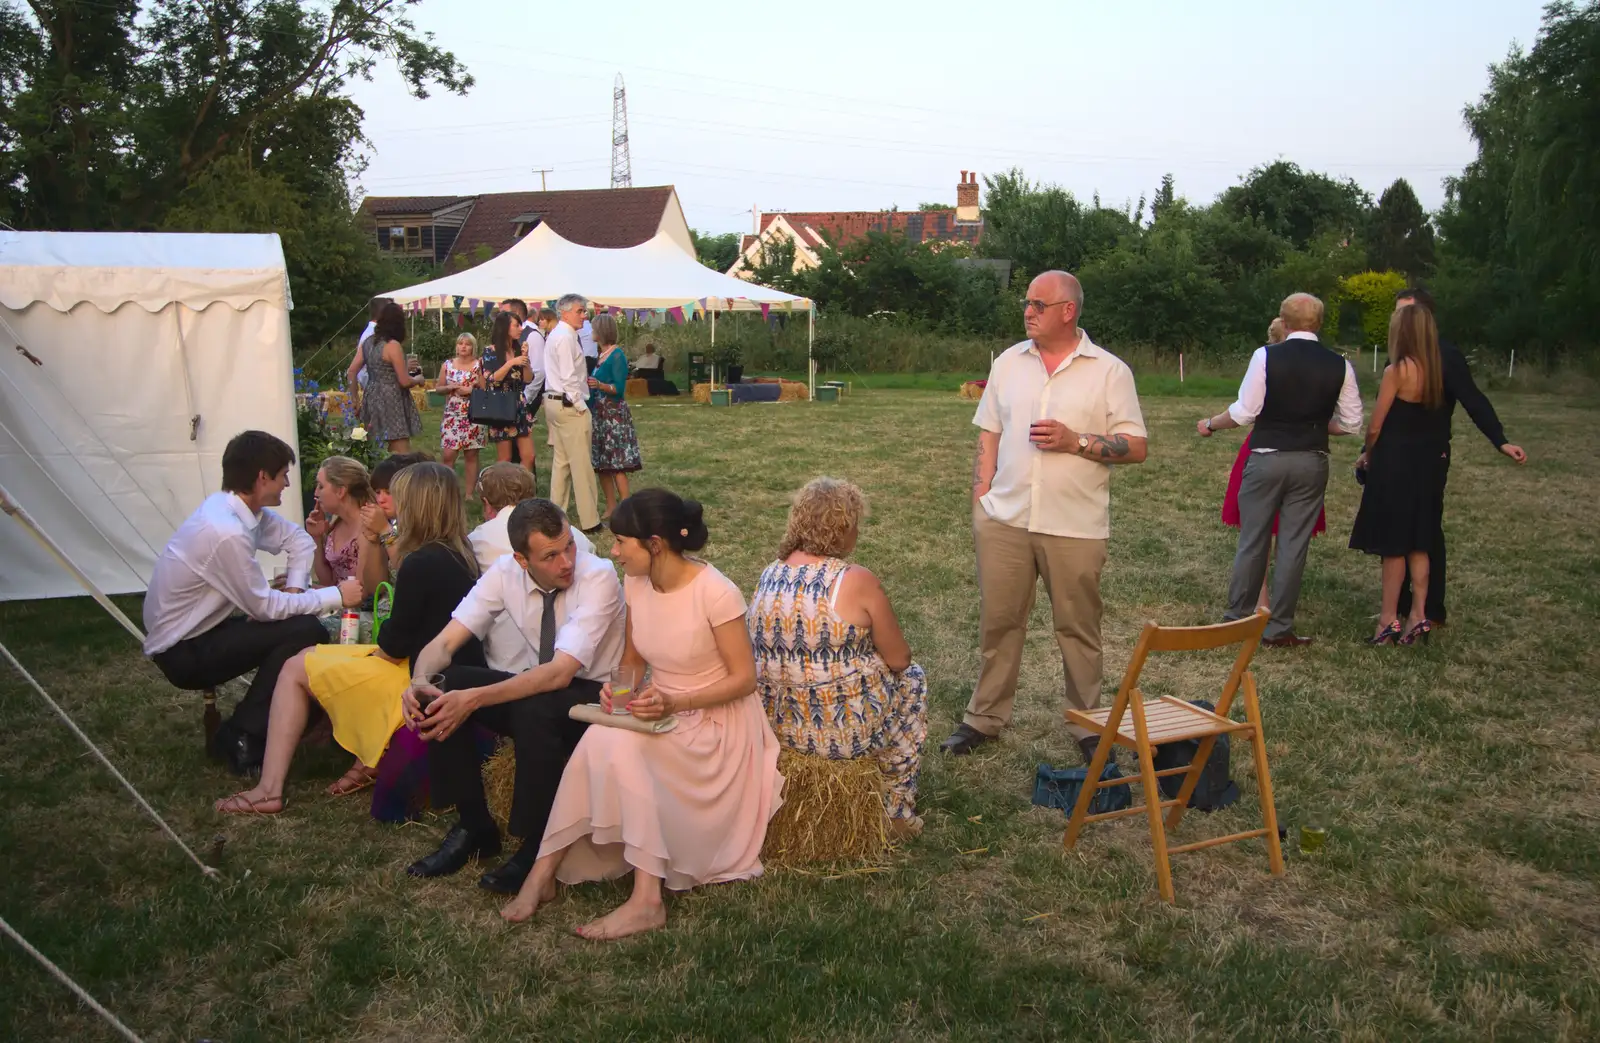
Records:
[[[1370,643],[1426,643],[1434,624],[1422,614],[1422,598],[1411,603],[1403,624],[1398,608],[1406,569],[1413,590],[1427,589],[1427,549],[1445,509],[1450,467],[1438,328],[1426,307],[1408,304],[1389,320],[1389,366],[1357,467],[1365,469],[1366,485],[1350,547],[1384,560],[1382,608]]]

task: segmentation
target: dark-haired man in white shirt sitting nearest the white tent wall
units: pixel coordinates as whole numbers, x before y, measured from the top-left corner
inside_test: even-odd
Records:
[[[256,678],[210,753],[235,774],[261,768],[278,670],[302,648],[328,640],[317,616],[362,601],[362,581],[306,590],[317,542],[270,510],[283,502],[294,450],[264,430],[234,435],[222,450],[222,491],[178,526],[144,595],[144,654],[178,688],[216,688],[250,670]],[[288,553],[274,590],[256,552]]]

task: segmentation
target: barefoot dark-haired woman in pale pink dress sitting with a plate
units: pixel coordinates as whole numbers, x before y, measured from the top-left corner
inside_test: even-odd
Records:
[[[643,490],[611,514],[627,601],[622,667],[653,677],[629,701],[645,734],[590,725],[562,773],[539,861],[507,920],[555,897],[555,881],[634,873],[634,894],[578,928],[608,941],[666,925],[662,886],[686,891],[762,875],[766,822],[782,803],[778,737],[755,694],[755,654],[744,598],[722,573],[686,552],[706,545],[701,506]],[[611,709],[610,685],[602,705]]]

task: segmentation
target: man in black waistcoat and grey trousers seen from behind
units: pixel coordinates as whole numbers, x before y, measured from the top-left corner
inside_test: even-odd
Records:
[[[1309,293],[1290,294],[1278,317],[1288,330],[1285,341],[1256,349],[1238,386],[1238,402],[1200,421],[1197,430],[1205,438],[1214,430],[1256,426],[1238,486],[1238,552],[1222,617],[1243,619],[1256,609],[1275,518],[1272,621],[1261,643],[1299,648],[1312,641],[1294,633],[1294,603],[1328,488],[1328,435],[1362,430],[1362,390],[1355,368],[1317,341],[1322,301]]]

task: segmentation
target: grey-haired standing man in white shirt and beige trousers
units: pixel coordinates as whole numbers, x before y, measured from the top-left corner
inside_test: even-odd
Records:
[[[578,502],[579,528],[586,536],[594,536],[600,531],[600,485],[589,456],[589,440],[594,437],[589,371],[578,342],[578,328],[586,325],[587,312],[589,301],[576,293],[555,302],[560,322],[544,341],[544,422],[550,427],[550,445],[555,448],[550,499],[565,510],[570,486]]]

